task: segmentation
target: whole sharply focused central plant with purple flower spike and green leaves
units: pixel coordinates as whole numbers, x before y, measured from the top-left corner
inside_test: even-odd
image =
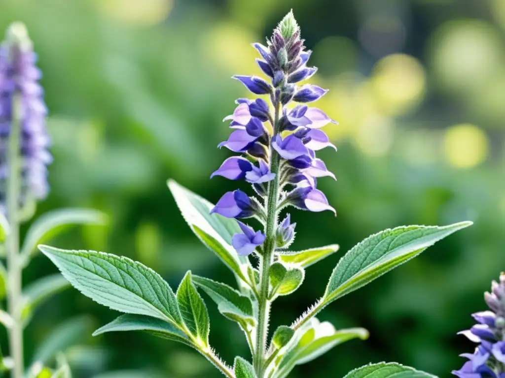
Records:
[[[338,250],[336,244],[291,249],[295,223],[290,214],[281,216],[288,207],[335,213],[317,188],[318,178],[334,175],[316,153],[326,147],[335,148],[321,128],[336,122],[320,109],[306,105],[327,90],[313,84],[299,85],[317,69],[307,66],[311,52],[300,38],[292,12],[274,30],[267,46],[253,46],[261,55],[258,66],[268,81],[257,76],[234,79],[264,97],[238,99],[233,113],[225,117],[232,132],[219,147],[242,156],[226,159],[211,175],[244,179],[252,185],[253,195],[235,190],[213,205],[175,181],[168,182],[191,230],[234,273],[236,289],[188,271],[174,293],[155,271],[125,257],[48,245],[38,248],[84,295],[124,313],[94,335],[143,331],[194,348],[225,376],[281,378],[296,365],[312,361],[338,344],[368,337],[363,328],[336,330],[329,322],[320,322],[316,315],[325,306],[471,222],[442,227],[402,226],[369,236],[342,257],[315,304],[291,325],[271,332],[269,338],[274,301],[296,291],[307,268]],[[249,225],[238,219],[252,222]],[[210,319],[201,293],[242,329],[250,358],[237,356],[230,366],[216,354],[209,344]],[[396,363],[367,365],[346,375],[364,376],[432,375]]]

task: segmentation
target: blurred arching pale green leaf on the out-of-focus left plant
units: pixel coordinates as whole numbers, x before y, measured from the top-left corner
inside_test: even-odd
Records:
[[[45,213],[35,220],[28,229],[21,248],[21,261],[26,265],[31,255],[37,250],[37,244],[48,242],[73,225],[105,225],[106,223],[107,215],[91,209],[70,208]]]

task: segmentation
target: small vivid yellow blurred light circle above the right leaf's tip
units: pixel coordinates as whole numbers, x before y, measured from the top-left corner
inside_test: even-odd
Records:
[[[458,168],[474,167],[488,154],[486,134],[473,124],[457,124],[447,129],[444,139],[447,162]]]

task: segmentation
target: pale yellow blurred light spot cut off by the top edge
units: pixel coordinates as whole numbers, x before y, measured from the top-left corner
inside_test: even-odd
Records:
[[[156,25],[167,19],[173,0],[95,0],[107,17],[133,26]]]

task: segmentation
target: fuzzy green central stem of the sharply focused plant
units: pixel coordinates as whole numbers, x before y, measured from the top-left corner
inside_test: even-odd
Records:
[[[275,136],[279,123],[279,102],[274,104],[275,115],[273,129]],[[267,225],[265,227],[265,248],[261,257],[260,270],[260,295],[258,297],[258,332],[256,335],[256,350],[254,358],[254,367],[258,378],[263,377],[265,369],[265,348],[267,344],[268,322],[270,316],[270,300],[268,299],[268,271],[272,265],[275,250],[275,227],[277,225],[277,202],[279,200],[279,154],[270,146],[270,171],[275,173],[275,177],[268,184],[267,207]]]

